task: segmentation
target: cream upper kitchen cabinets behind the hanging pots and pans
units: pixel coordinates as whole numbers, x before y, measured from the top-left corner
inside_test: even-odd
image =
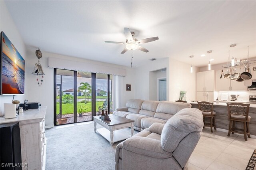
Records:
[[[223,69],[224,75],[227,73],[227,69]],[[216,91],[246,91],[247,87],[244,86],[244,82],[238,82],[235,80],[225,79],[223,76],[220,79],[221,70],[216,71]]]

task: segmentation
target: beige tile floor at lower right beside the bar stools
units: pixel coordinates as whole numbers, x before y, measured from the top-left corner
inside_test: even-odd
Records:
[[[245,170],[256,149],[256,138],[204,128],[188,160],[188,170]]]

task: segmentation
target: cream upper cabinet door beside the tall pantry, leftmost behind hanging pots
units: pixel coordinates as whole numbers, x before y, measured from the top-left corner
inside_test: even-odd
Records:
[[[223,70],[224,75],[227,70]],[[230,79],[225,79],[223,76],[220,79],[221,70],[216,71],[216,91],[229,91],[230,90]]]

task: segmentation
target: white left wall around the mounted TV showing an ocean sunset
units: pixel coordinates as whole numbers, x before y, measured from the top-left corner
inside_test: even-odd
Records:
[[[20,55],[25,59],[25,95],[16,95],[14,100],[19,100],[20,103],[24,102],[27,98],[28,93],[28,85],[27,85],[27,57],[26,57],[26,47],[22,40],[22,37],[18,31],[18,28],[14,24],[12,17],[6,7],[4,1],[0,1],[0,30],[3,31],[6,36],[10,39],[12,44],[16,47],[19,51]],[[13,96],[0,96],[0,115],[3,116],[4,114],[4,103],[12,103]]]

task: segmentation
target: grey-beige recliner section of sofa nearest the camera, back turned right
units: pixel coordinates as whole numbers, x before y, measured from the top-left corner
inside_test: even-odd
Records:
[[[203,126],[202,112],[195,108],[182,109],[165,124],[154,123],[116,146],[116,170],[187,169]]]

